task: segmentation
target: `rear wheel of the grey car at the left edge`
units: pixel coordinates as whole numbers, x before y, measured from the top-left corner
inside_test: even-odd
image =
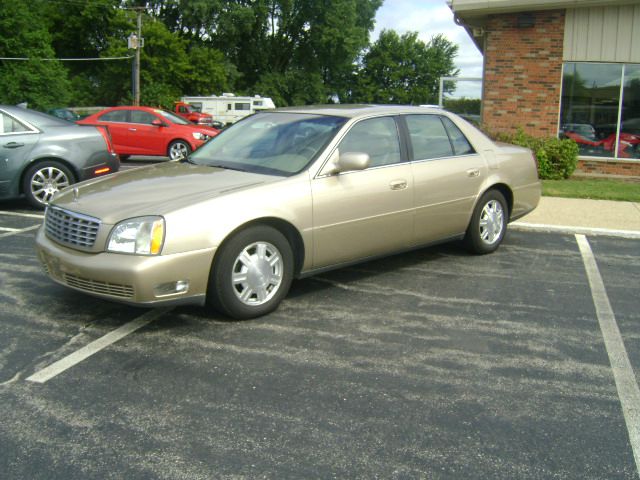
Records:
[[[50,160],[32,165],[27,169],[22,191],[31,205],[44,208],[55,193],[75,182],[76,178],[68,167]]]

